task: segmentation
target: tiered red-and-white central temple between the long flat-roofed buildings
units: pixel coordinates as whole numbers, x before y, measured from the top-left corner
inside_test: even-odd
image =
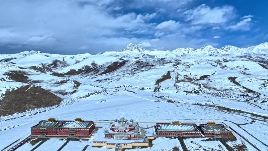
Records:
[[[134,147],[148,147],[149,140],[154,139],[153,133],[146,133],[154,130],[141,128],[138,122],[133,120],[114,120],[110,124],[101,127],[95,134],[93,147],[116,148],[120,146],[122,149],[131,149]],[[101,130],[103,130],[101,132]]]

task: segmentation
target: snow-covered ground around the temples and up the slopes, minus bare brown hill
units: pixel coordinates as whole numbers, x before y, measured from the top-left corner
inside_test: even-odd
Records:
[[[197,124],[223,122],[239,134],[234,132],[237,140],[228,141],[229,146],[236,149],[235,146],[245,145],[248,151],[267,151],[268,56],[264,52],[268,52],[268,47],[264,49],[263,45],[268,43],[261,45],[255,46],[262,48],[259,54],[250,52],[252,47],[225,50],[226,47],[223,53],[222,49],[209,46],[190,52],[124,50],[57,55],[31,51],[0,55],[1,98],[7,91],[31,85],[41,86],[63,99],[59,106],[1,116],[0,150],[27,137],[31,126],[50,117],[96,121],[125,117]],[[27,82],[12,80],[6,75],[12,71],[20,71],[17,73],[26,76]],[[226,151],[217,140],[184,141],[190,151]],[[57,150],[64,142],[47,140],[38,151]],[[178,139],[157,138],[153,144],[151,148],[133,150],[170,151],[178,147],[181,151]],[[93,148],[90,140],[70,141],[62,151],[81,151],[87,145],[86,151],[110,151]],[[19,151],[32,148],[28,143]]]

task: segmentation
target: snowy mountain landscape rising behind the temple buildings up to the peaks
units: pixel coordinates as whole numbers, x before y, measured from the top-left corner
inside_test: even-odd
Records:
[[[0,136],[6,136],[9,130],[4,129],[12,121],[27,121],[22,124],[26,129],[47,116],[124,116],[230,120],[258,138],[255,134],[263,129],[248,125],[267,130],[268,43],[175,50],[129,44],[122,51],[96,55],[2,54],[0,96],[0,120],[13,119],[0,125]]]

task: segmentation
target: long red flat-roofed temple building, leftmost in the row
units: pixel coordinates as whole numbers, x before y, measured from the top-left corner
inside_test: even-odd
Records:
[[[31,128],[32,136],[89,137],[95,129],[94,121],[42,120]]]

